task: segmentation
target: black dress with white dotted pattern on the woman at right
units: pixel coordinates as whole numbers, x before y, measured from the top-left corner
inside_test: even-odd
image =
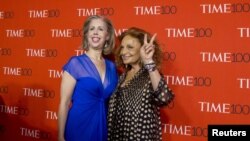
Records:
[[[130,82],[121,86],[126,73],[109,101],[109,141],[161,141],[160,107],[167,105],[174,94],[162,77],[156,91],[149,73],[140,69]]]

